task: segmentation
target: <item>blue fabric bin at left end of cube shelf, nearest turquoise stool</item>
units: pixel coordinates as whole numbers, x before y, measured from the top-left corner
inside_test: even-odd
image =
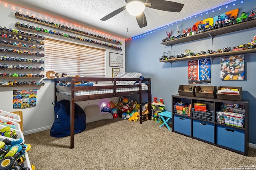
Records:
[[[178,115],[173,115],[173,117],[174,117],[174,131],[191,136],[191,119],[187,117],[178,116]]]

